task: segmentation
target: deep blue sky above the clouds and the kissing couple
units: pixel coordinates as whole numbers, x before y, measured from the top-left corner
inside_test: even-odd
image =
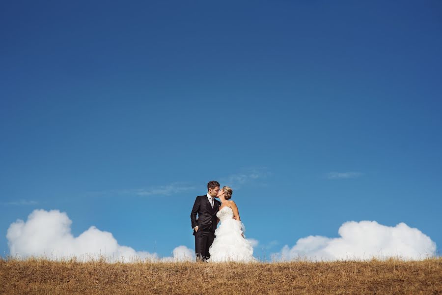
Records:
[[[440,249],[440,1],[160,2],[1,4],[2,255],[37,208],[193,249],[213,179],[257,257],[351,220]]]

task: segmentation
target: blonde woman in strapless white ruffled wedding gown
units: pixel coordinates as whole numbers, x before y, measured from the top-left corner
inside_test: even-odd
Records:
[[[220,198],[221,207],[217,217],[221,225],[215,230],[215,239],[209,248],[208,262],[256,262],[253,247],[244,236],[244,225],[241,222],[238,207],[231,201],[232,189],[224,186],[216,196]]]

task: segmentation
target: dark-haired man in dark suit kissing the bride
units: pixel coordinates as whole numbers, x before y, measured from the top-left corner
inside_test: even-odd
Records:
[[[220,191],[220,183],[218,181],[209,181],[207,183],[207,190],[207,195],[196,197],[191,213],[197,261],[209,259],[209,247],[215,239],[215,230],[220,221],[217,218],[217,212],[221,202],[215,200]],[[198,214],[198,219],[196,219],[196,214]]]

